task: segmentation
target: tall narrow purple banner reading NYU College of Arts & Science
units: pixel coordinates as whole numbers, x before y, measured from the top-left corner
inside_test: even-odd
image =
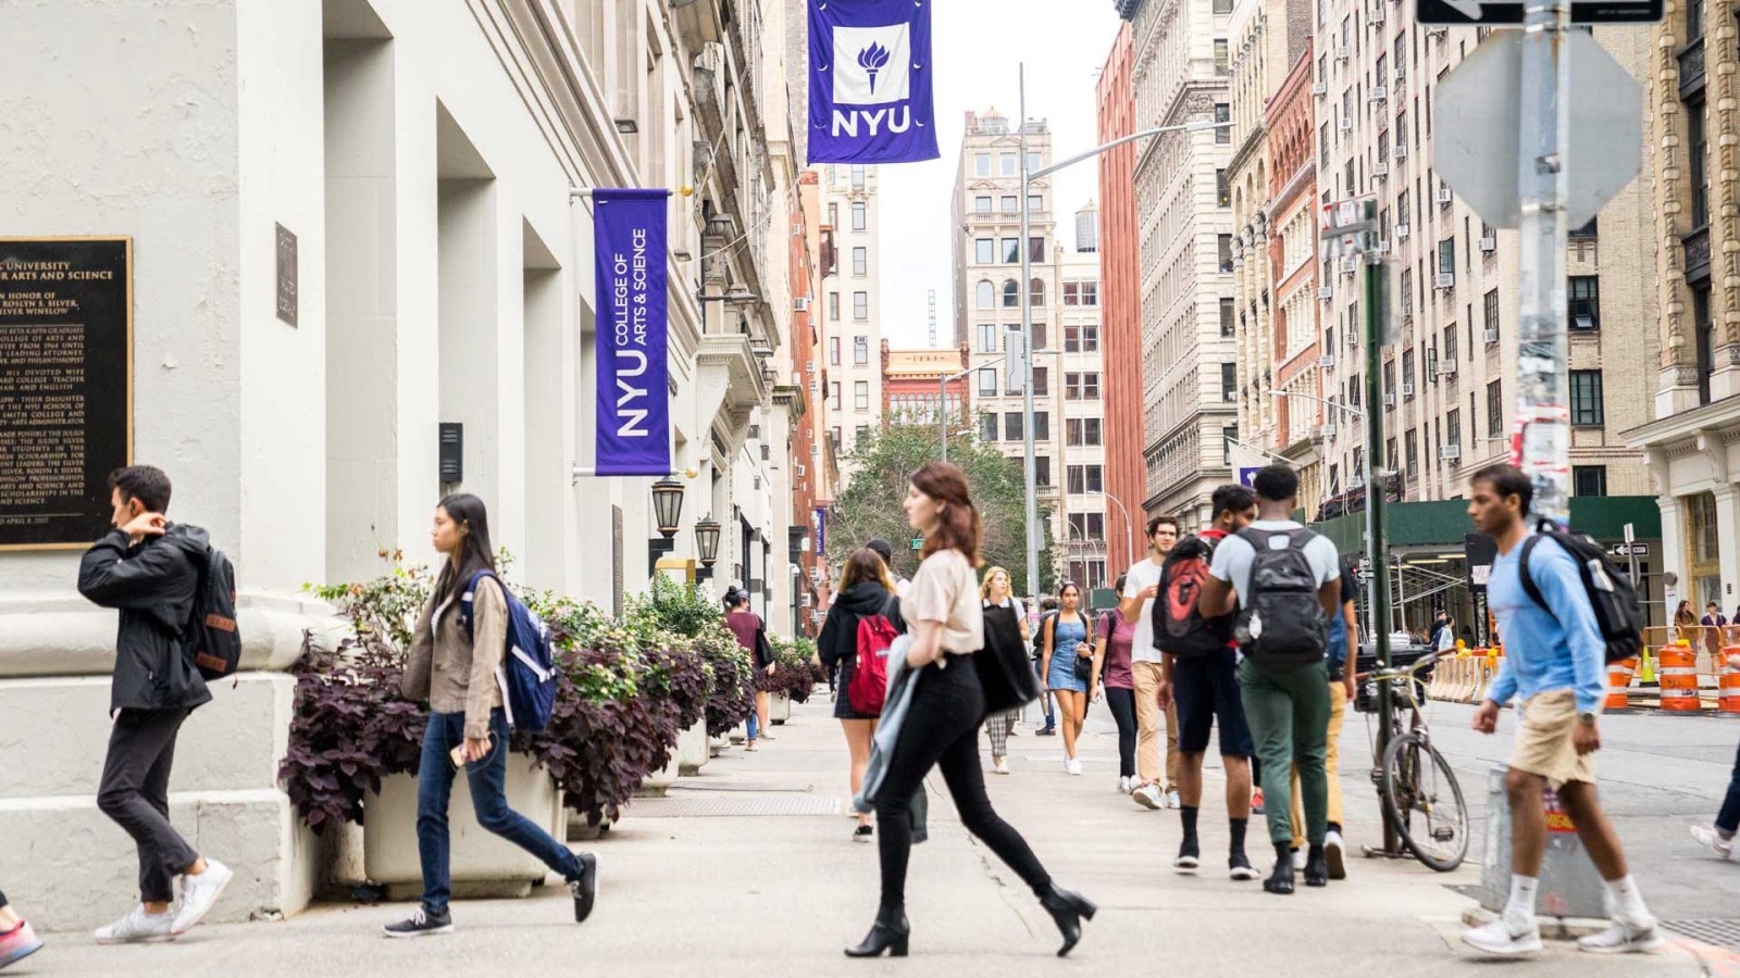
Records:
[[[593,190],[599,475],[670,475],[668,190]]]

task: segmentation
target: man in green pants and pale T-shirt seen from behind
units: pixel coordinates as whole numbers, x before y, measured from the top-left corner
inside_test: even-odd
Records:
[[[1293,769],[1305,807],[1305,886],[1328,886],[1329,616],[1340,611],[1342,571],[1328,538],[1293,522],[1300,479],[1270,465],[1251,482],[1256,522],[1215,548],[1199,609],[1239,609],[1239,693],[1263,762],[1268,841],[1275,868],[1263,889],[1293,893]]]

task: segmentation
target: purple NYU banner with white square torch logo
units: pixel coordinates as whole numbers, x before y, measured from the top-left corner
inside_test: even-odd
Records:
[[[933,0],[809,2],[809,162],[934,160]]]

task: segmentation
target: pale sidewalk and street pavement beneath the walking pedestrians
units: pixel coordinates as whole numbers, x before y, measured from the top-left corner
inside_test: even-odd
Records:
[[[599,910],[576,928],[566,893],[524,901],[461,901],[454,936],[386,941],[379,926],[409,905],[313,908],[285,922],[200,928],[174,945],[96,947],[85,934],[52,934],[17,975],[249,975],[329,973],[543,975],[1039,975],[1058,969],[1185,968],[1286,969],[1296,975],[1481,975],[1462,954],[1458,917],[1472,901],[1455,888],[1477,882],[1470,861],[1437,875],[1415,861],[1354,860],[1350,879],[1328,891],[1267,896],[1234,884],[1213,858],[1225,846],[1218,800],[1204,811],[1202,879],[1168,867],[1178,839],[1173,813],[1145,813],[1112,790],[1117,774],[1110,717],[1096,710],[1082,760],[1070,778],[1056,738],[1023,727],[1011,743],[1014,776],[992,778],[992,797],[1047,868],[1100,901],[1101,914],[1067,962],[1053,959],[1056,931],[1007,870],[952,818],[933,776],[933,835],[914,853],[910,917],[914,957],[851,962],[840,947],[861,936],[875,912],[875,847],[847,841],[844,741],[825,701],[793,712],[778,740],[757,754],[733,750],[686,778],[668,799],[637,802],[595,844],[604,867]],[[1465,708],[1439,707],[1441,743],[1465,787],[1503,752],[1503,738],[1463,733]],[[1726,778],[1740,724],[1723,719],[1613,717],[1608,797],[1634,853],[1646,896],[1663,919],[1735,914],[1740,865],[1703,858],[1683,823],[1707,814]],[[1376,837],[1376,804],[1364,766],[1364,724],[1345,734],[1348,835]],[[1658,755],[1644,754],[1656,745]],[[1672,747],[1667,747],[1672,745]],[[1218,799],[1220,776],[1211,774]],[[1481,804],[1481,792],[1470,790]],[[828,814],[818,814],[828,813]],[[1253,827],[1251,853],[1260,851]],[[28,908],[28,900],[26,900]],[[1308,950],[1308,957],[1302,952]],[[1305,964],[1308,961],[1308,964]],[[1552,943],[1545,959],[1507,973],[1740,975],[1728,952],[1681,943],[1641,959],[1590,959]]]

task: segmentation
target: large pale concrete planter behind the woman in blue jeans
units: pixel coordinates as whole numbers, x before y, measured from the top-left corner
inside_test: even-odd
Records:
[[[508,807],[539,828],[567,837],[562,792],[543,767],[524,754],[508,755]],[[381,794],[364,799],[364,863],[369,879],[386,888],[393,900],[423,893],[423,861],[418,856],[418,781],[395,774],[381,781]],[[477,823],[472,787],[459,773],[447,804],[449,860],[456,894],[525,896],[550,870],[525,849],[487,832]]]

